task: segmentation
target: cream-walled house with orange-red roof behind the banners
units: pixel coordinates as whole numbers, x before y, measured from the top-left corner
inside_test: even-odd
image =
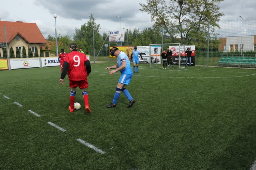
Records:
[[[46,40],[36,23],[1,21],[0,19],[0,44],[6,43],[9,56],[12,47],[15,57],[17,49],[19,49],[22,56],[23,46],[26,49],[27,56],[29,48],[31,48],[34,55],[35,47],[37,47],[40,55],[40,47],[45,50],[46,46]],[[1,57],[3,57],[3,48],[0,48]]]

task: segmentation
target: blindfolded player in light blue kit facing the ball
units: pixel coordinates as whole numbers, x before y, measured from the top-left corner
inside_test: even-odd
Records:
[[[130,84],[131,78],[132,78],[132,70],[131,65],[128,56],[123,51],[120,51],[118,48],[113,47],[110,50],[111,56],[117,57],[117,63],[114,66],[107,67],[105,70],[108,69],[115,69],[109,71],[109,74],[113,74],[117,71],[121,72],[121,77],[118,80],[117,86],[116,86],[116,92],[114,95],[114,99],[112,103],[107,105],[106,107],[115,107],[117,103],[117,99],[119,98],[121,91],[123,91],[124,95],[128,98],[129,105],[127,107],[131,107],[136,101],[131,97],[129,91],[125,88],[126,85]]]

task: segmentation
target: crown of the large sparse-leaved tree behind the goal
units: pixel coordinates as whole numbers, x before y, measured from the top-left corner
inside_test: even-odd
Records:
[[[223,0],[146,1],[147,4],[140,3],[140,10],[151,15],[151,20],[155,21],[153,27],[163,27],[172,39],[179,36],[183,44],[190,43],[197,36],[205,38],[208,21],[213,31],[214,27],[219,27],[219,18],[224,15],[217,5]]]

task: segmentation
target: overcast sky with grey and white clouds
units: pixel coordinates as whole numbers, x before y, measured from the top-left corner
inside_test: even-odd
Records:
[[[23,21],[37,23],[40,29],[74,30],[89,20],[93,14],[100,24],[100,32],[149,28],[153,25],[150,15],[139,11],[146,0],[9,0],[1,1],[1,21]],[[221,20],[256,17],[256,0],[224,0],[219,4],[225,16]],[[121,17],[118,18],[116,16]],[[120,26],[121,21],[121,26]]]

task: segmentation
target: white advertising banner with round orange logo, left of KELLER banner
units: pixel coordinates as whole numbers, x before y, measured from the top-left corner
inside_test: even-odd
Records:
[[[40,67],[39,58],[15,58],[10,59],[11,69]]]

